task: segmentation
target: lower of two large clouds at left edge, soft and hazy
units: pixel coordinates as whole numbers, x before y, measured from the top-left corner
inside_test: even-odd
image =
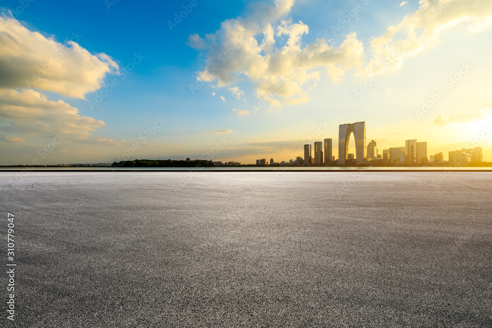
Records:
[[[53,137],[55,133],[73,140],[88,140],[101,120],[80,116],[78,109],[62,100],[51,101],[32,89],[0,89],[0,130],[32,136]]]

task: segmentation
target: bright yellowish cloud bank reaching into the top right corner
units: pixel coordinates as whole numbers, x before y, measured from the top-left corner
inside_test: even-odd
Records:
[[[492,1],[420,0],[419,3],[417,11],[372,39],[372,59],[364,69],[364,76],[399,69],[405,58],[438,44],[445,30],[461,25],[471,33],[492,25]]]

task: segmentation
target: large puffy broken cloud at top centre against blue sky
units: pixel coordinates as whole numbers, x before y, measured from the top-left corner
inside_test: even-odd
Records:
[[[256,3],[249,16],[225,20],[219,30],[200,38],[207,64],[197,79],[215,87],[247,79],[255,84],[256,97],[282,106],[309,101],[305,89],[320,79],[320,69],[338,81],[347,70],[363,68],[364,47],[355,33],[339,46],[325,39],[304,44],[307,25],[286,18],[295,0],[275,2]]]

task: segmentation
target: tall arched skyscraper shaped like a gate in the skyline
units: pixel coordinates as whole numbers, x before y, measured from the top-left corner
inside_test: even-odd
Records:
[[[341,124],[338,129],[338,165],[345,165],[348,158],[348,141],[350,134],[355,138],[357,165],[364,164],[366,159],[366,122]]]

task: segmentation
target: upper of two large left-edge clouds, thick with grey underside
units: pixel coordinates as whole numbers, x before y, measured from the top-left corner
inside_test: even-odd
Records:
[[[59,43],[0,14],[0,88],[36,88],[85,99],[118,69],[104,53],[92,55],[74,41]]]

